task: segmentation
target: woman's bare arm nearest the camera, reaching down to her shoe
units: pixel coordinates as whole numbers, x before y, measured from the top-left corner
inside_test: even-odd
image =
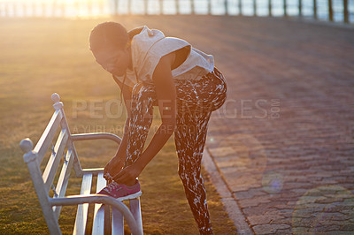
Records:
[[[165,142],[174,132],[176,126],[176,87],[171,72],[173,61],[174,53],[161,57],[152,77],[156,88],[162,124],[154,134],[148,148],[136,159],[135,163],[120,171],[114,177],[119,182],[124,183],[135,180],[152,158],[164,147]]]

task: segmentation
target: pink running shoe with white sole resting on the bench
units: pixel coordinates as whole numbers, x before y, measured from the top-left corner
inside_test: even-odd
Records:
[[[139,180],[136,179],[136,183],[134,186],[127,186],[124,184],[119,184],[113,181],[108,186],[105,186],[99,193],[101,195],[108,195],[119,201],[134,199],[142,195],[142,191],[140,190]]]

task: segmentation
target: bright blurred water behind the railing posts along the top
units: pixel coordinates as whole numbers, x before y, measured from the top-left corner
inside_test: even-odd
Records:
[[[119,14],[127,14],[128,1],[131,12],[133,14],[144,13],[144,0],[0,0],[0,16],[45,16],[45,17],[91,17],[103,16],[114,13],[117,9]],[[227,4],[230,15],[251,16],[254,15],[254,1],[253,0],[211,0],[211,13],[215,15],[222,15],[226,13],[225,5]],[[284,0],[271,0],[272,15],[282,16]],[[164,14],[176,13],[175,0],[161,1],[162,9],[160,10],[158,0],[149,0],[147,3],[149,14],[159,14],[162,11]],[[343,0],[332,0],[334,9],[334,20],[343,21]],[[350,22],[354,22],[354,0],[348,0],[350,11]],[[118,4],[117,4],[118,3]],[[269,0],[256,0],[256,12],[258,16],[268,15]],[[313,0],[302,0],[303,16],[313,17]],[[287,0],[287,13],[289,16],[296,16],[299,14],[298,8],[299,0]],[[117,5],[117,7],[115,7]],[[195,13],[207,14],[208,1],[194,0]],[[241,8],[240,8],[241,5]],[[54,7],[53,7],[54,6]],[[180,13],[190,14],[191,2],[190,0],[179,1]],[[328,4],[327,0],[317,0],[317,14],[319,19],[328,19]]]

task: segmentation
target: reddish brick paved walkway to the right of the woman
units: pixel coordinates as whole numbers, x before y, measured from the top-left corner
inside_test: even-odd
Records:
[[[123,23],[214,55],[228,99],[207,150],[250,232],[354,231],[353,28],[207,16]]]

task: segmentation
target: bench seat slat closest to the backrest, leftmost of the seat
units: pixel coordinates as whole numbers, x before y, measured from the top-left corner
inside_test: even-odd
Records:
[[[92,174],[85,174],[82,177],[81,193],[88,195],[91,193]],[[88,221],[89,204],[81,204],[78,206],[76,213],[75,225],[73,227],[73,234],[84,235],[86,230],[86,224]]]

